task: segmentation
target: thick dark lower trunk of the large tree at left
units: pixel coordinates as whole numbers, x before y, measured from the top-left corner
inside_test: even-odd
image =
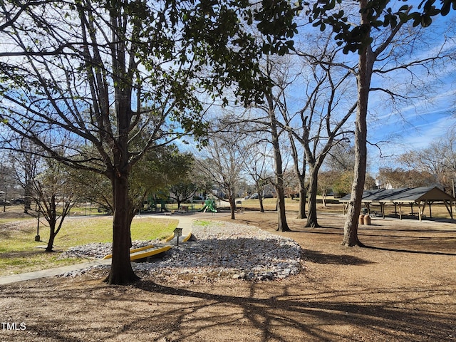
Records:
[[[113,260],[106,281],[123,285],[138,280],[130,262],[130,215],[128,212],[128,172],[113,175]]]

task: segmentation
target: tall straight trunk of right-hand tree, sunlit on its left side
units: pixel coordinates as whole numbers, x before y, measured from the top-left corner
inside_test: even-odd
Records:
[[[366,9],[367,0],[360,1],[361,9]],[[361,25],[368,25],[366,14],[361,11]],[[367,123],[369,88],[373,58],[371,46],[366,46],[360,51],[358,63],[358,108],[355,122],[355,170],[353,185],[351,187],[351,199],[348,203],[346,222],[343,227],[343,242],[345,246],[363,246],[358,239],[358,217],[361,212],[364,182],[366,180],[367,160]]]

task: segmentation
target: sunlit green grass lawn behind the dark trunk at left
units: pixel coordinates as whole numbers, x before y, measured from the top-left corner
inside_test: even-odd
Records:
[[[110,216],[66,219],[54,242],[55,253],[44,252],[49,232],[43,223],[39,229],[41,241],[36,242],[36,219],[3,221],[0,222],[0,276],[76,264],[83,259],[60,259],[60,252],[91,242],[112,241],[113,217]],[[175,227],[176,219],[135,217],[132,239],[165,239]]]

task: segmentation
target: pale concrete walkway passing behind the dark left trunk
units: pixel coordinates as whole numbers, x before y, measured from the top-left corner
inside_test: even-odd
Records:
[[[157,214],[157,215],[147,215],[147,217],[154,217],[159,219],[169,218],[169,219],[178,219],[179,223],[177,227],[182,228],[182,237],[187,236],[192,232],[192,222],[195,219],[214,219],[220,216],[226,216],[227,213],[195,213],[195,214]],[[140,215],[138,218],[145,215]],[[97,259],[93,261],[87,261],[82,264],[68,265],[56,267],[54,269],[43,269],[41,271],[33,271],[22,274],[12,274],[11,276],[0,276],[0,285],[16,283],[18,281],[26,281],[31,279],[45,278],[46,276],[57,276],[58,274],[65,274],[67,272],[76,271],[78,269],[86,269],[90,266],[97,265],[110,265],[111,259]]]

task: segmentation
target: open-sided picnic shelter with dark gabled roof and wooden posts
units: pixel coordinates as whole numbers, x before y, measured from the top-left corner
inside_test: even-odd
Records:
[[[347,195],[341,199],[343,212],[346,213],[348,202],[351,200],[351,195]],[[365,190],[363,192],[363,204],[366,206],[368,214],[371,213],[371,204],[380,204],[381,216],[385,217],[385,204],[393,204],[395,213],[399,214],[399,218],[403,216],[403,205],[410,205],[410,214],[414,215],[413,206],[418,206],[418,218],[423,219],[426,206],[429,207],[429,217],[432,217],[432,204],[434,202],[443,202],[447,208],[450,217],[453,218],[452,204],[456,202],[455,197],[447,194],[440,187],[402,187],[399,189],[375,189]],[[399,207],[399,212],[398,208]]]

